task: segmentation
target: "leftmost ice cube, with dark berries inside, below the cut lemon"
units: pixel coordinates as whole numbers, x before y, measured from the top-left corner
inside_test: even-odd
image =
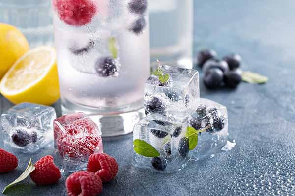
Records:
[[[53,141],[54,108],[21,103],[1,115],[5,147],[14,147],[24,153],[36,152]]]

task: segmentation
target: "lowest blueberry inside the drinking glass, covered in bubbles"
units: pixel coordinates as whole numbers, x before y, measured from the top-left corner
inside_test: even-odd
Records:
[[[118,71],[118,63],[111,57],[100,58],[95,63],[95,70],[102,77],[114,76]]]

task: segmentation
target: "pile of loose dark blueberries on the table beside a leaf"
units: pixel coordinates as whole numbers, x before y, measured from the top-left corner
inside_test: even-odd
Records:
[[[222,86],[236,88],[242,81],[241,60],[238,54],[218,59],[217,53],[212,49],[204,49],[197,54],[197,64],[204,72],[203,82],[209,89]]]

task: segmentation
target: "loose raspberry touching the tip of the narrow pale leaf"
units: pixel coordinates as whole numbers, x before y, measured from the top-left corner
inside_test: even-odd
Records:
[[[42,157],[35,163],[35,168],[29,175],[36,184],[54,184],[61,178],[59,168],[54,164],[52,156]]]

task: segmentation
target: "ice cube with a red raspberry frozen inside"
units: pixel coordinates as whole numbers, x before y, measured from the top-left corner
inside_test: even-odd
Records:
[[[103,152],[101,132],[84,113],[68,114],[55,119],[54,139],[63,172],[84,170],[89,155]]]

